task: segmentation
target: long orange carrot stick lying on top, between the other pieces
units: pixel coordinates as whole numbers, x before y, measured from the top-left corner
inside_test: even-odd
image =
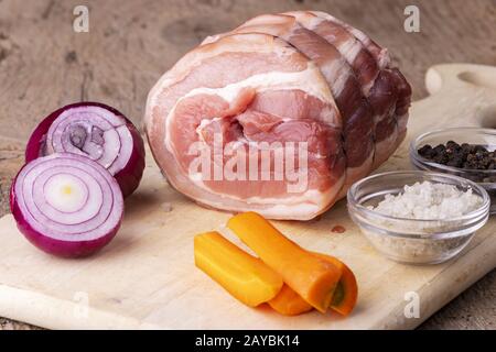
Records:
[[[331,306],[341,270],[303,250],[256,212],[230,218],[233,230],[288,286],[321,312]]]

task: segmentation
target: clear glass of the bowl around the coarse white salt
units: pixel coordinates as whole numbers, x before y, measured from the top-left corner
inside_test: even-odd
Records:
[[[387,194],[403,191],[405,185],[424,180],[450,184],[460,190],[472,188],[482,206],[457,218],[417,220],[393,218],[368,209]],[[371,244],[387,257],[408,264],[436,264],[459,254],[489,216],[489,196],[477,184],[453,175],[421,170],[390,172],[369,176],[348,190],[348,212]]]

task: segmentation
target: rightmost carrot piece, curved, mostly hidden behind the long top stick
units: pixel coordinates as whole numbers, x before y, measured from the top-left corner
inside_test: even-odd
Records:
[[[342,316],[349,315],[353,308],[355,308],[356,300],[358,298],[358,285],[356,283],[355,275],[352,270],[338,258],[322,253],[313,254],[341,267],[341,279],[337,283],[330,308],[337,311]]]

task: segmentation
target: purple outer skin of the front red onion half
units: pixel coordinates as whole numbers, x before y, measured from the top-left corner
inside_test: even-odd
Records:
[[[21,170],[19,170],[19,173]],[[46,237],[43,233],[34,230],[22,215],[22,211],[19,209],[14,190],[15,179],[17,177],[12,180],[12,186],[10,187],[10,210],[12,211],[12,215],[15,219],[19,231],[21,231],[21,233],[28,239],[28,241],[30,241],[33,245],[35,245],[43,252],[67,258],[89,256],[107,245],[117,234],[117,231],[119,231],[122,218],[117,223],[117,226],[108,232],[108,234],[91,241],[68,242]]]

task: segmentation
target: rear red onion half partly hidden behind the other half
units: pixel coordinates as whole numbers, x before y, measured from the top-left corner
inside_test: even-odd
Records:
[[[33,131],[25,161],[53,153],[73,153],[98,162],[116,177],[123,197],[138,187],[144,169],[143,140],[116,109],[78,102],[46,117]]]

